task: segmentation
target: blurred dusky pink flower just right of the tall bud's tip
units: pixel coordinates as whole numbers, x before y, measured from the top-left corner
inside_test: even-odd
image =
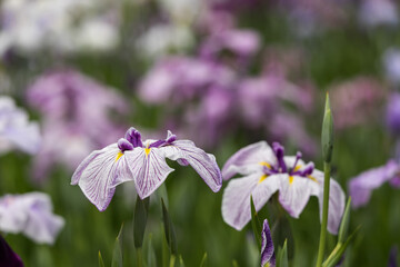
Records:
[[[328,91],[332,97],[334,125],[340,130],[377,118],[378,107],[386,96],[382,85],[368,77],[333,85]]]

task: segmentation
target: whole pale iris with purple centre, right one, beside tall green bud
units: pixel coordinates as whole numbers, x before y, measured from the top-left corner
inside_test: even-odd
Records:
[[[274,142],[272,149],[266,141],[247,146],[236,152],[222,168],[224,180],[236,174],[244,176],[233,179],[224,189],[222,217],[224,221],[241,230],[251,219],[250,196],[256,210],[279,191],[279,201],[290,216],[298,218],[310,196],[317,196],[322,215],[323,172],[312,162],[304,164],[301,154],[284,157],[283,147]],[[344,192],[337,181],[330,180],[328,230],[338,233],[344,210]]]

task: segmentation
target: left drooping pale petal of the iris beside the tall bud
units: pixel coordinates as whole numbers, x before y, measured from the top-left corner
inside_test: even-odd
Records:
[[[251,220],[250,196],[259,211],[278,190],[281,175],[266,177],[262,172],[231,180],[222,196],[222,218],[237,230]]]

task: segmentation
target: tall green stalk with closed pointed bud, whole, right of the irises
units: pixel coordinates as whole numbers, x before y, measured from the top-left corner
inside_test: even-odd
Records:
[[[323,157],[323,202],[322,202],[322,222],[320,241],[318,249],[317,267],[322,266],[326,239],[327,239],[327,227],[328,227],[328,211],[329,211],[329,186],[330,186],[330,172],[331,172],[331,159],[333,150],[333,118],[331,113],[329,95],[327,93],[326,108],[322,121],[322,157]]]

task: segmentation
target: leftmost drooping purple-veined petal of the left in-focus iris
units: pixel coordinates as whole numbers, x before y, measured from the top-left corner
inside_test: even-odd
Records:
[[[78,166],[71,185],[78,184],[84,196],[103,211],[114,195],[116,186],[132,179],[126,155],[120,152],[117,144],[112,144],[90,154]]]

